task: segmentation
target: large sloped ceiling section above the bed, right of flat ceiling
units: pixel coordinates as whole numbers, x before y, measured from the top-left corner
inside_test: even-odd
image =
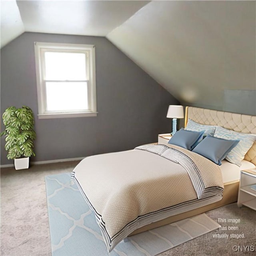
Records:
[[[254,1],[152,1],[107,38],[184,102],[255,90]]]

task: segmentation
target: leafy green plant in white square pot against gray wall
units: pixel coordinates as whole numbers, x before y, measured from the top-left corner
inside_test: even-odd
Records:
[[[29,157],[35,156],[33,148],[36,133],[32,110],[27,106],[22,108],[11,106],[4,112],[3,122],[5,130],[0,136],[6,136],[7,158],[14,159],[16,170],[27,169]]]

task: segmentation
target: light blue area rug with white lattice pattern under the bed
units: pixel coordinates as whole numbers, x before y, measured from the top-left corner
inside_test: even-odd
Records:
[[[200,214],[125,239],[108,253],[94,213],[70,173],[45,176],[52,256],[155,256],[220,225]]]

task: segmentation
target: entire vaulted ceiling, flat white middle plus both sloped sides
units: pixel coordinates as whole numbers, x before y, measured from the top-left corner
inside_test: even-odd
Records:
[[[255,1],[1,1],[1,47],[23,32],[105,36],[182,102],[255,90]]]

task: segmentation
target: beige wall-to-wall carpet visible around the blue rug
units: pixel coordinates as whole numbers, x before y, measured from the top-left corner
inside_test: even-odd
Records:
[[[71,172],[78,162],[34,165],[28,170],[1,169],[1,255],[51,256],[44,176]],[[231,256],[256,255],[255,252],[233,252],[238,245],[254,245],[256,250],[256,212],[230,204],[207,212],[218,218],[240,218],[239,230],[227,234],[244,234],[244,238],[213,238],[223,234],[215,230],[159,256]],[[222,226],[227,226],[223,224]],[[233,225],[234,226],[234,225]],[[72,255],[75,256],[75,255]]]

